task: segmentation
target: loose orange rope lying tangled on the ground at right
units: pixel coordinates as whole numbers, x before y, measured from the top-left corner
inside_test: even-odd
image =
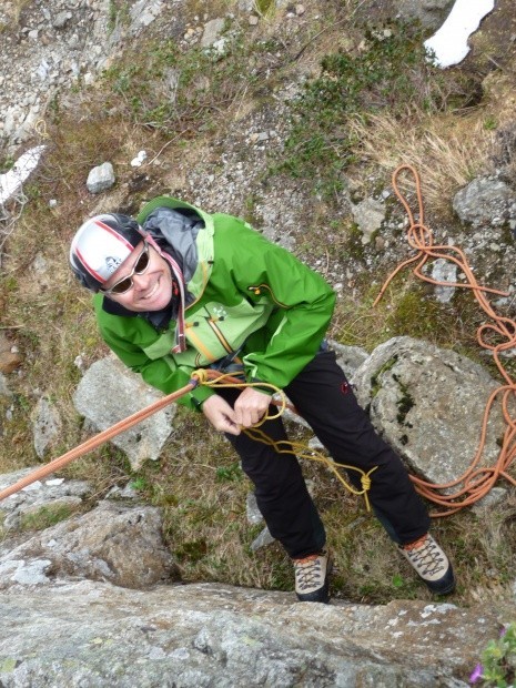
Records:
[[[403,172],[409,172],[414,176],[416,194],[417,194],[417,213],[418,222],[415,221],[411,208],[405,200],[403,193],[399,191],[398,178]],[[496,366],[505,381],[505,384],[495,389],[487,399],[486,408],[480,427],[480,438],[477,452],[472,459],[472,463],[463,475],[458,476],[455,480],[443,484],[433,484],[422,478],[411,475],[412,482],[415,484],[417,492],[426,499],[437,504],[442,509],[431,514],[433,517],[448,516],[458,512],[465,506],[469,506],[485,497],[490,488],[499,478],[505,478],[512,485],[516,485],[516,479],[509,475],[508,468],[516,455],[516,418],[512,415],[512,412],[516,411],[515,391],[516,384],[510,375],[505,370],[500,361],[500,352],[513,348],[516,346],[516,322],[498,315],[492,307],[486,294],[498,294],[507,296],[505,292],[500,292],[495,289],[488,289],[480,286],[476,281],[475,275],[463,251],[456,246],[436,245],[434,244],[433,234],[431,230],[424,224],[424,209],[423,196],[421,189],[421,180],[417,171],[412,165],[401,165],[393,174],[393,188],[396,196],[403,204],[408,216],[408,230],[407,241],[409,245],[417,251],[416,255],[401,263],[396,270],[388,276],[384,283],[378,296],[376,297],[374,305],[382,299],[385,290],[391,284],[392,280],[403,267],[416,263],[413,269],[413,273],[431,284],[443,286],[455,286],[459,289],[468,289],[473,292],[480,308],[486,313],[490,322],[480,325],[477,330],[478,343],[482,347],[489,350],[493,353],[493,358]],[[433,280],[423,273],[423,266],[429,259],[445,259],[455,263],[466,277],[465,283],[449,283],[439,282]],[[490,344],[486,336],[490,334],[495,335],[498,344]],[[482,466],[482,457],[484,454],[487,424],[489,415],[493,412],[495,403],[498,402],[502,408],[502,414],[506,424],[502,447],[498,454],[496,463],[492,466]],[[513,402],[510,408],[510,402]],[[455,489],[453,489],[455,488]],[[446,494],[443,493],[446,490]]]

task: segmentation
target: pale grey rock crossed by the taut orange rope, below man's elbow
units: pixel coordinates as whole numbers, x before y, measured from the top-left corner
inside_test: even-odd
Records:
[[[132,373],[114,356],[109,356],[97,361],[87,371],[73,401],[81,415],[99,431],[104,431],[162,396],[140,375]],[[155,461],[172,431],[174,415],[175,406],[169,406],[113,437],[112,443],[125,452],[134,469],[145,459]]]

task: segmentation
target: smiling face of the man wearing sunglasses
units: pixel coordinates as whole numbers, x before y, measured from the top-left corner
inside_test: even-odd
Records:
[[[146,267],[144,255],[145,245],[149,252]],[[133,272],[134,270],[136,272]],[[123,294],[109,291],[112,287],[120,289],[115,285],[129,276],[132,280],[132,285]],[[124,287],[125,283],[121,286]],[[144,244],[142,241],[120,267],[113,272],[104,284],[103,290],[109,292],[107,295],[110,299],[120,303],[129,311],[161,311],[172,299],[172,274],[165,259],[163,259],[155,249],[149,244]]]

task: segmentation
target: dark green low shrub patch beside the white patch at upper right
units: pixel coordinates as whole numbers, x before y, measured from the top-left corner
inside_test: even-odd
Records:
[[[356,162],[360,150],[348,122],[354,118],[367,122],[370,114],[383,110],[406,117],[416,108],[443,107],[437,84],[432,85],[433,72],[421,31],[403,23],[367,30],[352,51],[326,55],[321,75],[308,80],[293,103],[282,168],[296,176],[315,174],[332,190],[342,190],[342,171]]]

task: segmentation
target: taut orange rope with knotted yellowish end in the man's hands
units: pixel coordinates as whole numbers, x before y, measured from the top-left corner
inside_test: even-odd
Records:
[[[36,471],[32,471],[24,477],[20,478],[13,485],[0,490],[0,502],[2,499],[6,499],[10,495],[13,495],[14,493],[19,492],[20,489],[23,489],[23,487],[27,487],[28,485],[36,483],[36,480],[39,480],[50,475],[51,473],[54,473],[55,471],[63,468],[64,466],[70,464],[75,458],[79,458],[80,456],[83,456],[88,452],[95,449],[98,446],[100,446],[101,444],[104,444],[112,437],[115,437],[117,435],[119,435],[120,433],[123,433],[124,431],[129,429],[133,425],[136,425],[136,423],[141,423],[142,421],[150,417],[158,411],[165,408],[166,406],[175,402],[181,396],[188,394],[189,392],[192,392],[192,389],[194,389],[198,385],[206,385],[209,387],[219,386],[219,387],[234,387],[234,388],[261,387],[262,389],[267,388],[267,389],[271,389],[271,392],[273,392],[274,394],[277,394],[280,396],[280,401],[279,402],[273,401],[273,404],[279,407],[277,412],[273,415],[265,415],[252,428],[244,429],[244,432],[251,438],[255,439],[256,442],[262,442],[264,444],[271,445],[272,447],[274,447],[274,449],[279,454],[294,454],[299,456],[300,458],[317,461],[317,462],[325,464],[326,467],[330,468],[330,471],[334,473],[334,475],[337,477],[337,479],[341,482],[341,484],[346,489],[348,489],[354,495],[364,496],[366,508],[367,510],[371,510],[367,492],[371,488],[370,476],[376,469],[376,466],[372,468],[368,473],[365,473],[364,471],[355,466],[335,464],[331,458],[328,458],[324,454],[317,451],[310,449],[302,443],[287,442],[287,441],[281,441],[281,442],[272,441],[263,431],[260,429],[260,426],[267,419],[272,421],[274,418],[280,417],[286,407],[290,407],[292,411],[295,412],[295,408],[291,406],[290,404],[287,404],[285,394],[275,385],[271,385],[269,383],[263,383],[263,382],[260,382],[260,383],[243,382],[242,380],[239,380],[237,377],[234,377],[233,375],[221,373],[219,371],[214,371],[210,368],[200,368],[199,371],[195,371],[192,374],[192,378],[190,380],[190,382],[184,387],[181,387],[181,389],[178,389],[176,392],[173,392],[172,394],[169,394],[164,396],[163,398],[158,399],[156,402],[150,404],[149,406],[145,406],[145,408],[142,408],[141,411],[138,411],[136,413],[120,421],[119,423],[115,423],[108,429],[99,433],[98,435],[94,435],[93,437],[90,437],[90,439],[87,439],[85,442],[74,447],[73,449],[70,449],[70,452],[67,452],[62,456],[54,458],[53,461],[45,464],[44,466],[41,466],[37,468]],[[345,479],[342,477],[342,475],[340,474],[340,468],[343,468],[345,471],[358,472],[361,474],[362,489],[361,490],[356,489],[352,485],[347,484]]]

